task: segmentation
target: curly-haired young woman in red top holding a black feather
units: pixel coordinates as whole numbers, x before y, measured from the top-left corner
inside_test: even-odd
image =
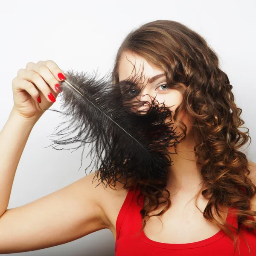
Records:
[[[18,71],[14,106],[0,133],[0,253],[52,247],[108,228],[118,256],[256,255],[256,164],[239,151],[250,136],[239,130],[241,109],[217,55],[183,24],[156,20],[125,38],[113,81],[136,76],[142,67],[141,99],[156,96],[172,105],[176,131],[184,135],[169,148],[166,179],[113,189],[96,186],[91,173],[6,210],[29,134],[64,80],[51,60]]]

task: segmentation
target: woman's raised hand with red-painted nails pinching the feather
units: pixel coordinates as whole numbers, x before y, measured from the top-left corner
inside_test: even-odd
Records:
[[[23,117],[38,120],[55,102],[61,92],[61,89],[57,90],[59,81],[64,79],[62,70],[54,61],[27,63],[12,80],[13,110]]]

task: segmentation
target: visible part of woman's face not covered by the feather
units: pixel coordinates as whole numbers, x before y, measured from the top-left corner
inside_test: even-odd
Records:
[[[140,95],[137,96],[137,99],[141,101],[149,101],[150,97],[145,94],[149,94],[151,97],[156,97],[156,100],[161,103],[165,102],[165,105],[169,107],[172,112],[172,118],[174,112],[178,105],[182,102],[182,94],[175,89],[168,88],[166,84],[166,76],[164,71],[154,67],[152,64],[149,64],[143,57],[136,55],[131,52],[122,52],[120,62],[119,62],[119,81],[131,78],[138,77],[143,70],[142,78],[139,83],[145,85]],[[157,76],[157,77],[155,77]],[[184,89],[186,89],[185,84],[182,84]],[[144,96],[143,96],[144,95]],[[141,107],[140,110],[143,110],[145,107]],[[185,123],[187,126],[187,137],[191,131],[193,120],[185,113],[184,109],[179,113],[178,117]],[[180,133],[181,130],[178,127],[175,130],[177,133]]]

